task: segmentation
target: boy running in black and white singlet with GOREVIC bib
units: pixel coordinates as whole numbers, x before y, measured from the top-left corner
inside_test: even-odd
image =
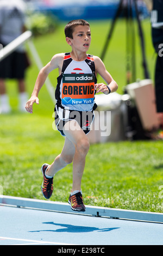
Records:
[[[52,196],[53,176],[60,169],[73,161],[73,182],[68,203],[75,211],[85,211],[82,197],[82,176],[85,167],[85,157],[89,151],[90,131],[93,121],[93,111],[97,105],[94,102],[95,93],[109,94],[118,88],[102,60],[87,54],[91,44],[90,25],[84,20],[73,20],[65,27],[66,42],[72,47],[70,53],[55,54],[37,76],[32,96],[26,103],[26,110],[33,113],[33,103],[39,104],[38,94],[46,78],[54,69],[59,69],[58,84],[55,90],[55,124],[65,144],[61,154],[52,164],[41,167],[43,182],[41,191],[46,199]],[[97,83],[97,73],[106,84]]]

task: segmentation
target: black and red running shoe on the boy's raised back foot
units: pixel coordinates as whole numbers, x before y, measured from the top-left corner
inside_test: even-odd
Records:
[[[45,176],[45,172],[46,172],[46,169],[48,166],[49,166],[49,164],[44,163],[41,167],[41,172],[43,175],[41,192],[43,194],[43,197],[45,197],[46,199],[49,199],[53,193],[53,177],[49,179]]]

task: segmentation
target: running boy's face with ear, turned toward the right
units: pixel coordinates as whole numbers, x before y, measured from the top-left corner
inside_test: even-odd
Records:
[[[82,52],[89,50],[91,44],[91,31],[89,26],[75,27],[72,36],[73,39],[66,38],[67,43],[72,46],[72,49],[74,48]]]

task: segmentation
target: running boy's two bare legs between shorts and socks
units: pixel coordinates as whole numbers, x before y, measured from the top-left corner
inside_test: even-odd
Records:
[[[64,133],[66,138],[61,154],[48,167],[46,174],[48,176],[54,176],[60,169],[73,161],[73,192],[74,190],[81,190],[85,157],[89,150],[89,139],[74,120],[68,121],[65,124]]]

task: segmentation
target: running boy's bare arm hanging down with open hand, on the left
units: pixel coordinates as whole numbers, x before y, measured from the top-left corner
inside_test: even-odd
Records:
[[[39,104],[39,92],[41,87],[43,86],[43,84],[46,81],[46,78],[48,76],[48,74],[57,68],[60,68],[62,65],[62,60],[64,59],[63,54],[56,54],[53,56],[51,62],[49,62],[46,66],[44,66],[40,72],[39,75],[37,76],[36,82],[35,82],[35,86],[33,89],[33,93],[30,97],[30,99],[27,101],[26,103],[26,110],[29,113],[33,113],[33,103],[37,103]]]

